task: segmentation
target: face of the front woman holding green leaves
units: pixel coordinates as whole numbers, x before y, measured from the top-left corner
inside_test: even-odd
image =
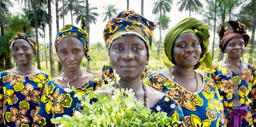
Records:
[[[140,79],[148,64],[145,42],[137,35],[125,35],[114,40],[109,50],[111,66],[122,81]]]

